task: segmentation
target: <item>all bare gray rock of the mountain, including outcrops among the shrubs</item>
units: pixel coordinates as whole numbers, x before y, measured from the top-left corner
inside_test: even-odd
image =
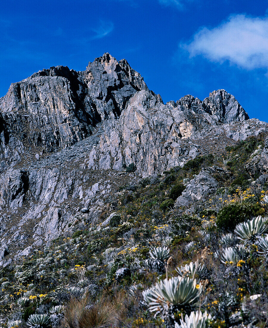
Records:
[[[0,98],[0,120],[1,265],[99,220],[107,203],[112,213],[120,186],[268,132],[225,90],[164,104],[109,53],[83,72],[57,66],[13,83]],[[211,184],[187,186],[177,204],[190,206],[215,191]]]

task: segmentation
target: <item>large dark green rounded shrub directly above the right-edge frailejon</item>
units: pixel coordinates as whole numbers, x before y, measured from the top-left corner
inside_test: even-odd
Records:
[[[231,203],[219,211],[216,225],[218,229],[234,231],[238,223],[262,213],[263,209],[260,204]]]

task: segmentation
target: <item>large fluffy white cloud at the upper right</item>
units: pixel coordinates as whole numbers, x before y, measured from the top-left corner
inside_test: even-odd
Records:
[[[218,27],[202,28],[188,45],[191,56],[198,54],[214,62],[228,60],[245,69],[268,68],[268,17],[230,16]]]

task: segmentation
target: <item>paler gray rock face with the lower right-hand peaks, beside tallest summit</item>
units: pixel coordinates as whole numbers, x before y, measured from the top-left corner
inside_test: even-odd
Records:
[[[122,170],[134,163],[144,175],[156,174],[261,131],[267,131],[267,124],[248,120],[224,90],[212,92],[203,102],[185,96],[166,105],[153,92],[142,90],[118,120],[104,122],[99,154],[94,155],[106,169]]]

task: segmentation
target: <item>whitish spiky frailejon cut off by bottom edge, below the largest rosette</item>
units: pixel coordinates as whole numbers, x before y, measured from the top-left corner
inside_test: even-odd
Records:
[[[175,323],[175,328],[208,328],[211,320],[211,315],[205,311],[203,314],[199,311],[192,311],[190,316],[180,319],[180,324]]]

